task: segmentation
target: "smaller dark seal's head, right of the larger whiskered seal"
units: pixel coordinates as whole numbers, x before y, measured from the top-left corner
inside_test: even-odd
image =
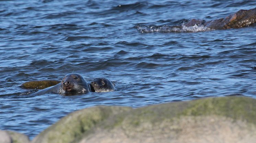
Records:
[[[114,84],[104,77],[94,79],[90,87],[92,92],[110,92],[115,90]]]

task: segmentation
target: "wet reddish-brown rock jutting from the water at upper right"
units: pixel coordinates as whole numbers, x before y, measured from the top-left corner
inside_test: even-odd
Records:
[[[256,8],[250,10],[239,10],[238,12],[231,14],[225,18],[220,18],[211,21],[204,21],[198,19],[192,19],[185,26],[204,25],[210,29],[230,29],[241,28],[252,25],[256,22]]]

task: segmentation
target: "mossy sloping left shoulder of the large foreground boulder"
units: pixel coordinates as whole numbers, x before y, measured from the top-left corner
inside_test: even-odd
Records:
[[[130,109],[117,106],[96,106],[73,112],[41,132],[32,143],[71,143],[110,115]]]

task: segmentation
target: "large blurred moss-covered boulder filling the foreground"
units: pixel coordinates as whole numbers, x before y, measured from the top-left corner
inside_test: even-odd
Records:
[[[256,142],[256,99],[205,98],[132,109],[95,106],[69,114],[33,143]]]

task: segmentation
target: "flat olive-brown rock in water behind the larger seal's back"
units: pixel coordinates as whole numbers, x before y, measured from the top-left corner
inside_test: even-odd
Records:
[[[28,89],[44,89],[50,86],[55,86],[56,84],[60,83],[59,80],[42,80],[42,81],[29,81],[25,82],[21,85],[23,88]]]

